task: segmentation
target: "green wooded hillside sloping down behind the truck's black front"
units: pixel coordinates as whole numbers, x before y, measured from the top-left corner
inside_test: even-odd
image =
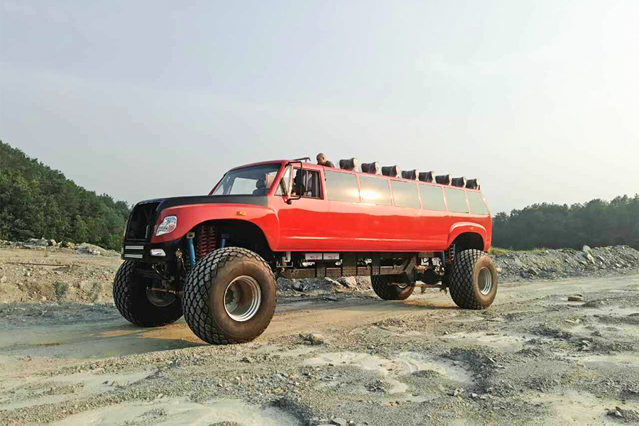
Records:
[[[0,239],[88,242],[119,251],[129,206],[85,190],[0,141]]]

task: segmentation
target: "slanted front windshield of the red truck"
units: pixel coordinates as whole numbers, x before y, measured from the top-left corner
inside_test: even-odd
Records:
[[[224,175],[213,195],[266,195],[273,185],[278,170],[280,170],[279,164],[231,170]]]

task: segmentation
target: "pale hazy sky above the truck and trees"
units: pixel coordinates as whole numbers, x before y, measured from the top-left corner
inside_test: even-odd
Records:
[[[116,199],[275,158],[479,178],[493,213],[639,192],[639,1],[23,1],[0,138]]]

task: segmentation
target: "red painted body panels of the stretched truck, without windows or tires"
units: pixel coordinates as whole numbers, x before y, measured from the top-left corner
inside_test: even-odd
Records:
[[[296,162],[302,168],[316,170],[320,173],[322,185],[321,198],[305,198],[290,200],[285,195],[275,195],[278,182],[285,174],[285,166],[290,160],[274,160],[242,166],[280,164],[280,170],[266,195],[266,205],[250,203],[217,203],[195,202],[175,207],[168,207],[159,212],[155,221],[155,229],[168,216],[177,216],[178,226],[170,234],[155,236],[153,229],[151,244],[163,244],[168,241],[182,239],[198,224],[212,220],[232,220],[251,222],[261,229],[268,246],[273,252],[421,252],[444,251],[460,234],[471,233],[481,236],[484,251],[491,246],[491,216],[488,214],[472,214],[450,212],[445,197],[444,187],[436,183],[390,178],[376,175],[388,181],[398,180],[411,182],[414,185],[439,187],[444,196],[447,209],[445,211],[423,208],[396,207],[366,204],[364,202],[340,202],[327,200],[327,185],[324,173],[332,170],[349,173],[358,177],[358,189],[361,190],[359,177],[371,176],[366,173],[324,168],[321,165]],[[218,184],[219,185],[219,182]],[[217,187],[216,185],[216,187]],[[391,185],[390,182],[388,185]],[[456,188],[466,193],[477,190]],[[212,192],[209,194],[211,195]],[[392,194],[392,191],[391,191]],[[483,195],[481,196],[484,200]],[[484,200],[485,203],[485,200]],[[466,204],[469,205],[466,199]],[[471,208],[469,205],[469,212]]]

